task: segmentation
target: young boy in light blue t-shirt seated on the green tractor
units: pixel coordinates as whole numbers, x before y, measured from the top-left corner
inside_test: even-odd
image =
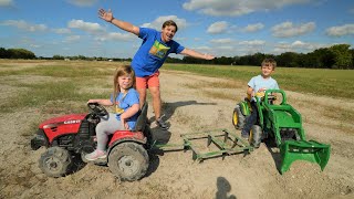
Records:
[[[266,92],[266,90],[279,90],[278,83],[271,77],[274,72],[277,62],[273,59],[264,59],[261,65],[261,74],[253,76],[248,83],[247,95],[251,96],[251,115],[246,119],[246,124],[241,130],[243,138],[249,138],[251,127],[257,123],[258,109],[253,98],[257,92]]]

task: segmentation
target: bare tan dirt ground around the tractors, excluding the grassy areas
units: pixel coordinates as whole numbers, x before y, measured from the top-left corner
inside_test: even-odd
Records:
[[[160,81],[164,112],[171,127],[162,132],[153,123],[156,135],[181,144],[180,134],[186,133],[227,128],[239,134],[231,116],[244,95],[243,84],[212,87],[228,81],[170,71],[162,71]],[[0,88],[1,100],[14,94],[10,86]],[[331,118],[321,108],[354,109],[354,101],[287,93],[303,116],[308,139],[332,146],[324,171],[315,164],[295,161],[280,175],[277,149],[262,143],[250,155],[200,164],[192,160],[190,150],[153,154],[147,175],[134,182],[121,182],[108,167],[94,164],[62,178],[49,178],[38,167],[45,148],[34,151],[30,147],[32,133],[27,130],[32,129],[30,118],[38,111],[28,108],[0,113],[0,198],[354,198],[354,124]],[[230,97],[217,97],[225,95]],[[153,119],[152,104],[148,116]]]

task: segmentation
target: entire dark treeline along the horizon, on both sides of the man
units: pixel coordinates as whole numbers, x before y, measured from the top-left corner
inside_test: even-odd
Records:
[[[284,52],[279,55],[256,53],[243,56],[220,56],[212,61],[185,56],[184,59],[167,57],[167,63],[188,64],[217,64],[217,65],[260,65],[264,57],[273,57],[279,66],[284,67],[315,67],[315,69],[354,69],[354,49],[350,44],[335,44],[330,48],[316,49],[310,53]],[[35,54],[25,49],[3,49],[0,48],[0,59],[41,59],[41,60],[87,60],[87,61],[127,61],[132,59],[108,59],[108,57],[86,57],[53,55],[52,57],[37,57]]]

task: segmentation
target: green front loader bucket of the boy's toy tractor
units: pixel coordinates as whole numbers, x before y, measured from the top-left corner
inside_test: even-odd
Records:
[[[320,165],[321,170],[327,165],[331,155],[331,145],[315,140],[285,140],[280,145],[280,174],[289,170],[295,160],[306,160]]]

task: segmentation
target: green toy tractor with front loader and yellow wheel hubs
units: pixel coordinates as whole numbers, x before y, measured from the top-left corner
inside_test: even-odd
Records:
[[[278,95],[281,102],[275,104]],[[256,100],[259,117],[258,123],[250,130],[250,144],[258,148],[266,138],[274,142],[280,148],[280,174],[288,171],[295,160],[316,163],[323,170],[330,159],[331,146],[315,140],[306,140],[301,114],[287,103],[284,91],[267,90],[263,96],[258,96]],[[243,128],[247,116],[251,112],[248,98],[235,107],[232,124],[237,129]]]

